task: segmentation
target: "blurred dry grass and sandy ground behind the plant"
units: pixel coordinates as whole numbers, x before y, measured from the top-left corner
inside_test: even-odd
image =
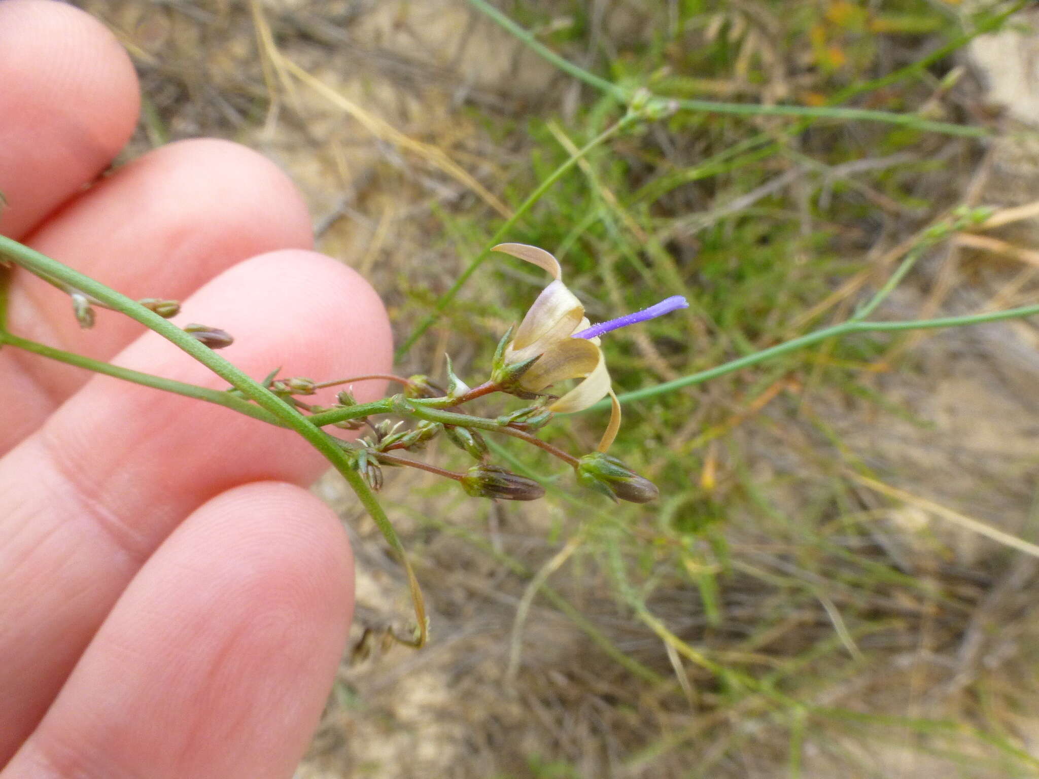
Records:
[[[217,135],[270,156],[307,194],[322,250],[373,280],[400,337],[561,150],[615,113],[462,0],[80,4],[141,74],[128,154]],[[956,26],[908,0],[861,29],[841,2],[790,18],[746,0],[688,18],[678,2],[566,5],[509,9],[596,72],[642,75],[648,47],[675,66],[662,89],[764,103],[825,100]],[[694,78],[681,65],[696,47],[720,53]],[[950,87],[925,71],[869,100],[988,120],[969,76]],[[517,227],[513,240],[570,247],[600,318],[642,287],[695,286],[688,319],[616,342],[627,388],[846,315],[932,219],[1006,191],[974,141],[862,124],[785,140],[787,127],[694,115],[622,136]],[[704,166],[755,133],[778,151]],[[888,314],[1034,300],[1027,234],[982,235],[929,254]],[[993,240],[1010,246],[1002,262]],[[535,289],[481,274],[401,372],[438,371],[445,351],[478,370]],[[1035,346],[1023,323],[831,344],[639,406],[620,447],[664,486],[650,511],[565,492],[502,508],[396,475],[385,504],[432,615],[418,653],[383,641],[407,613],[398,565],[323,482],[354,534],[359,608],[298,777],[1037,775],[1036,565],[963,527],[1035,538]],[[560,441],[593,441],[590,417]],[[554,589],[535,593],[554,559]]]

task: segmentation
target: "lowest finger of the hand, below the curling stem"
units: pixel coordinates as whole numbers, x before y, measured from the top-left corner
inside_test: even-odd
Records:
[[[3,779],[286,779],[352,609],[330,509],[260,483],[195,511],[115,605]]]

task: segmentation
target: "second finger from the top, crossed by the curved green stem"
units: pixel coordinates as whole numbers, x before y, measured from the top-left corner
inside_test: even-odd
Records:
[[[130,297],[181,300],[249,257],[310,248],[312,232],[305,204],[276,165],[236,143],[198,139],[123,166],[45,222],[30,243]],[[144,329],[99,310],[96,326],[83,330],[69,296],[24,271],[10,295],[12,332],[96,359],[110,359]],[[0,453],[89,377],[0,350]]]

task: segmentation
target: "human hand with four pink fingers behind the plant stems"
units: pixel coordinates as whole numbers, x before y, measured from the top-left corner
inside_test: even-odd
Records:
[[[100,24],[0,2],[0,233],[132,297],[184,300],[183,321],[232,332],[222,353],[252,376],[385,371],[380,301],[309,250],[298,193],[259,155],[175,143],[81,191],[137,109]],[[223,386],[119,315],[80,330],[68,296],[20,270],[8,326]],[[321,457],[229,409],[12,348],[0,455],[0,777],[290,776],[352,607],[340,523],[302,488]]]

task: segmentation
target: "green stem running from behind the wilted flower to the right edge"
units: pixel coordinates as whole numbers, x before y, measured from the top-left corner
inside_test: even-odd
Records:
[[[753,354],[747,354],[729,362],[709,368],[705,371],[698,371],[697,373],[692,373],[672,381],[665,381],[662,384],[656,384],[642,390],[636,390],[635,392],[624,393],[623,395],[617,396],[617,400],[621,403],[630,403],[634,400],[644,400],[645,398],[664,395],[665,393],[672,392],[673,390],[681,390],[682,387],[690,386],[691,384],[699,384],[703,381],[708,381],[709,379],[724,376],[726,373],[732,373],[734,371],[739,371],[742,368],[747,368],[749,366],[756,365],[757,362],[764,362],[772,357],[778,357],[782,354],[787,354],[788,352],[795,351],[796,349],[802,349],[806,346],[817,344],[820,341],[825,341],[826,339],[830,339],[835,335],[846,335],[852,332],[897,332],[900,330],[927,330],[937,329],[940,327],[963,327],[965,325],[985,324],[987,322],[1000,322],[1006,319],[1031,317],[1037,314],[1039,314],[1039,304],[1022,305],[1017,308],[990,312],[988,314],[971,314],[962,317],[941,317],[938,319],[920,319],[896,322],[862,322],[849,320],[848,322],[843,322],[842,324],[833,325],[832,327],[815,330],[814,332],[801,335],[800,338],[792,339],[791,341],[784,341],[783,343],[776,344],[768,349],[763,349],[762,351],[754,352]],[[598,410],[609,407],[609,402],[601,401],[594,406],[591,406],[589,410]]]

